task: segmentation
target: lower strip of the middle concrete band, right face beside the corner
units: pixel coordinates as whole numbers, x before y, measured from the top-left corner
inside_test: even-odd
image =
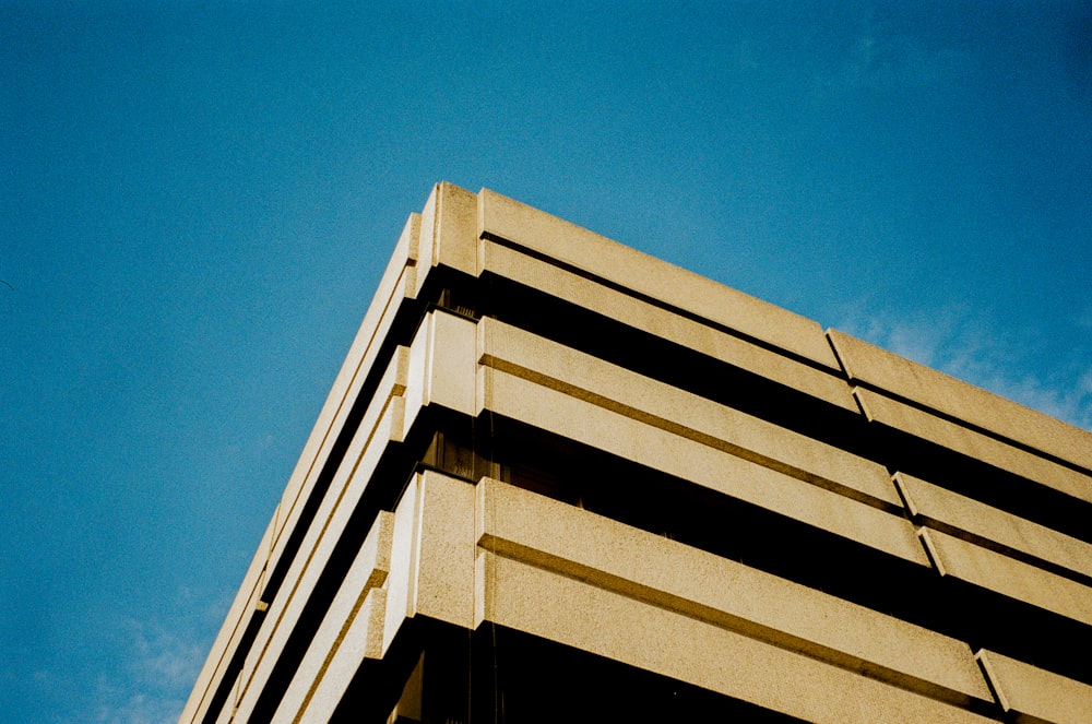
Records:
[[[904,518],[489,367],[479,407],[928,566]]]

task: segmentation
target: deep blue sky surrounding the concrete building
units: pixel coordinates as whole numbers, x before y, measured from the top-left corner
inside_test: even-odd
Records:
[[[1092,7],[0,0],[0,721],[174,721],[406,215],[1092,429]]]

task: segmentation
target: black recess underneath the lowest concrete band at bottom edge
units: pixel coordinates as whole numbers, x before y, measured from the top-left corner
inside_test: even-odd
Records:
[[[428,619],[415,624],[418,648],[406,646],[394,673],[361,667],[333,723],[799,721],[489,622],[474,632]],[[388,692],[382,712],[372,701],[380,692]]]

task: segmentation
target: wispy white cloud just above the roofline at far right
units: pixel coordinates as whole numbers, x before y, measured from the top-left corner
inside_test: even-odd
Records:
[[[852,313],[838,325],[875,345],[1067,423],[1092,430],[1092,361],[1036,366],[1034,330],[1001,328],[961,307]]]

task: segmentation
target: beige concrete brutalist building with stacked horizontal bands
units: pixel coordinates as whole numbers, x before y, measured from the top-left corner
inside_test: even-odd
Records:
[[[1092,722],[1092,435],[487,190],[411,215],[182,722]]]

